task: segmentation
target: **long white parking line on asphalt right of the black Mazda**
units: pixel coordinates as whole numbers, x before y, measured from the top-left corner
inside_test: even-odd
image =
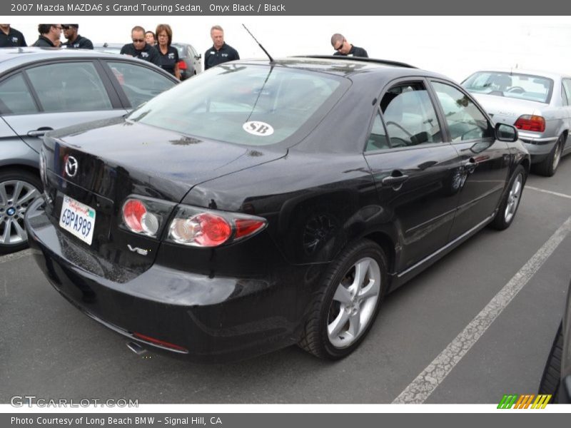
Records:
[[[440,355],[393,400],[393,404],[425,402],[570,232],[571,217],[555,230],[551,238],[537,250],[530,260],[527,260],[527,263],[450,342],[450,345],[440,352]]]

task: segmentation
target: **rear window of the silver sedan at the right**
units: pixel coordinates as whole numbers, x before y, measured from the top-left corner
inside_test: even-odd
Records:
[[[530,74],[479,71],[466,79],[462,85],[473,93],[549,103],[553,81],[547,77]]]

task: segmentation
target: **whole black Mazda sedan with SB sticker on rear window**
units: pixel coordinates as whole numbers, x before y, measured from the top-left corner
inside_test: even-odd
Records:
[[[54,131],[26,230],[90,317],[196,360],[355,350],[385,294],[515,216],[530,158],[452,81],[390,61],[236,61]]]

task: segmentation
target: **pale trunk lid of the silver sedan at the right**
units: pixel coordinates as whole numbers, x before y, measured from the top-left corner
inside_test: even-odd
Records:
[[[524,114],[541,115],[541,109],[547,104],[537,101],[507,98],[505,96],[487,95],[484,93],[472,93],[484,110],[492,116],[495,123],[507,123],[513,125],[517,118]]]

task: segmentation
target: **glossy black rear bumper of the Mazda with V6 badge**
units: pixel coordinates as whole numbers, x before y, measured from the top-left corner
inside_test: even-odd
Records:
[[[36,263],[61,295],[111,330],[148,347],[209,362],[253,357],[298,341],[306,307],[299,297],[309,297],[295,287],[303,283],[295,282],[297,275],[303,277],[302,268],[278,267],[276,277],[238,278],[155,263],[138,275],[119,272],[117,280],[109,280],[74,263],[81,260],[74,257],[74,238],[51,223],[42,205],[41,200],[31,205],[25,219]]]

